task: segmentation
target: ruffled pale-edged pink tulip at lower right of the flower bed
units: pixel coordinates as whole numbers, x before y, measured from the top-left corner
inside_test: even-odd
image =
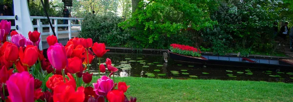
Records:
[[[97,83],[93,83],[93,86],[97,95],[106,96],[107,93],[113,88],[114,82],[107,76],[102,76],[97,80]]]

